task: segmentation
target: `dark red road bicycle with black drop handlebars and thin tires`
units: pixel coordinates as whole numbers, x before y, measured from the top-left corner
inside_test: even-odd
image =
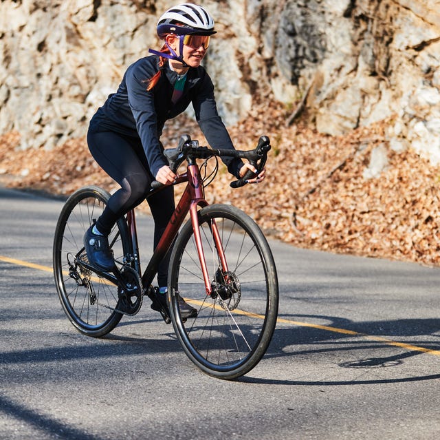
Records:
[[[278,315],[274,258],[250,216],[231,205],[209,205],[204,193],[217,175],[219,156],[245,158],[259,173],[269,150],[267,136],[261,136],[255,149],[240,151],[201,147],[189,135],[181,137],[178,147],[166,149],[176,174],[186,160],[186,171],[177,174],[175,182],[186,182],[186,188],[143,273],[134,210],[120,218],[109,235],[115,269],[101,272],[89,264],[83,235],[104,209],[109,193],[95,186],[75,191],[56,224],[53,260],[58,296],[77,330],[102,337],[123,315],[135,315],[145,295],[154,298],[157,265],[171,248],[168,307],[160,313],[167,324],[173,322],[186,355],[205,373],[221,379],[236,379],[254,368],[270,344]],[[216,163],[208,174],[210,158]],[[203,164],[197,159],[204,159]],[[243,186],[252,176],[248,171],[230,185]],[[151,193],[163,187],[153,182]],[[181,317],[178,295],[197,308],[197,316]]]

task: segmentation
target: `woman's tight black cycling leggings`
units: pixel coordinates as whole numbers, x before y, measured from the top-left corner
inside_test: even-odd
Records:
[[[120,216],[146,198],[153,176],[148,169],[139,139],[114,132],[89,131],[87,143],[96,162],[121,186],[109,198],[107,207],[96,221],[98,231],[108,235]],[[156,247],[175,209],[173,187],[159,191],[149,197],[147,202],[155,222],[154,247]],[[166,286],[169,254],[159,264],[157,271],[159,286]]]

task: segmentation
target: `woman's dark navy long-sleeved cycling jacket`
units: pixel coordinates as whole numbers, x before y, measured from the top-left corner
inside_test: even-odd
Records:
[[[168,63],[165,63],[153,90],[146,91],[148,79],[157,72],[158,65],[157,55],[146,56],[130,65],[118,91],[109,95],[92,118],[91,129],[106,129],[140,138],[150,171],[156,176],[159,168],[168,165],[159,142],[164,124],[168,119],[184,112],[192,103],[197,123],[210,146],[214,149],[233,149],[232,140],[217,112],[214,86],[206,70],[201,66],[189,68],[184,93],[173,104],[171,96],[177,74],[170,69]],[[230,173],[239,177],[242,161],[234,158],[222,160]]]

